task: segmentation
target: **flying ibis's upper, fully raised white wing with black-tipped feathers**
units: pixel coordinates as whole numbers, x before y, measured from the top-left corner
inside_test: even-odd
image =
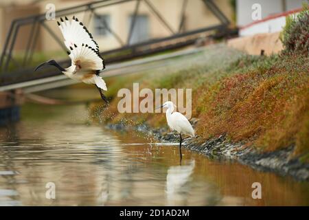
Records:
[[[65,46],[68,49],[69,47],[73,47],[74,44],[81,46],[84,43],[84,45],[89,45],[95,51],[99,51],[98,43],[93,40],[91,33],[76,17],[73,17],[71,21],[67,17],[65,17],[65,20],[60,18],[58,26],[65,38]]]

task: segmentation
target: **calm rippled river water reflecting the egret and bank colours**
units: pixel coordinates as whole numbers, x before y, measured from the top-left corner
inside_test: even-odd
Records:
[[[93,122],[85,104],[26,104],[0,128],[0,206],[308,206],[309,184]],[[262,199],[253,199],[254,182]]]

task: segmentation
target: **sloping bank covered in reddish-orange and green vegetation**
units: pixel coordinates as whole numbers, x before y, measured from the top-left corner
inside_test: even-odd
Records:
[[[204,140],[224,134],[261,151],[295,144],[294,155],[309,161],[308,56],[249,56],[212,45],[173,63],[107,80],[113,100],[100,113],[102,120],[166,126],[163,113],[118,113],[118,89],[132,89],[133,83],[140,89],[192,88],[192,117],[198,118],[196,134]]]

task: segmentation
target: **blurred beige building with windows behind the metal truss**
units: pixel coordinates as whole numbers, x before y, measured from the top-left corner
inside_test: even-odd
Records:
[[[185,0],[149,0],[155,8],[159,9],[160,14],[175,32],[179,28],[179,21],[181,20],[181,9]],[[53,3],[57,10],[69,8],[75,5],[89,3],[86,0],[1,0],[0,3],[0,42],[1,48],[5,42],[5,36],[11,22],[14,19],[27,17],[34,14],[44,14],[48,3]],[[233,17],[233,4],[230,0],[214,1],[218,8],[225,14],[228,19]],[[111,5],[104,8],[98,8],[96,15],[91,15],[87,12],[80,12],[76,14],[78,19],[87,26],[90,32],[93,33],[95,41],[100,45],[100,50],[111,50],[119,47],[119,41],[126,42],[128,32],[130,30],[130,22],[135,11],[135,1]],[[73,15],[72,15],[73,16]],[[111,33],[102,25],[102,19],[106,21],[113,32],[119,36],[119,39],[111,36]],[[157,19],[155,14],[149,10],[144,1],[140,2],[139,14],[136,18],[133,35],[130,43],[137,43],[152,38],[160,38],[170,35],[168,30]],[[205,25],[215,25],[220,23],[218,19],[211,13],[202,0],[189,0],[187,2],[187,9],[185,11],[185,20],[183,22],[183,30],[194,30]],[[57,33],[60,39],[62,36],[56,21],[48,21],[46,23],[51,30]],[[19,34],[16,39],[14,50],[25,50],[25,38],[32,34],[31,26],[22,27],[20,30],[23,34]],[[60,50],[60,45],[50,36],[46,30],[41,29],[37,42],[36,51],[57,51]]]

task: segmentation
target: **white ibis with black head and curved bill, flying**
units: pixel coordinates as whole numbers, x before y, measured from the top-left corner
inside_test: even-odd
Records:
[[[50,60],[36,67],[35,71],[43,65],[53,65],[62,74],[74,80],[87,84],[94,84],[100,91],[101,98],[108,103],[102,90],[107,90],[106,83],[100,76],[102,69],[105,69],[104,59],[100,56],[98,43],[93,40],[87,28],[73,17],[71,21],[65,17],[57,21],[58,26],[65,39],[65,46],[69,50],[67,54],[71,58],[71,66],[66,69]]]

